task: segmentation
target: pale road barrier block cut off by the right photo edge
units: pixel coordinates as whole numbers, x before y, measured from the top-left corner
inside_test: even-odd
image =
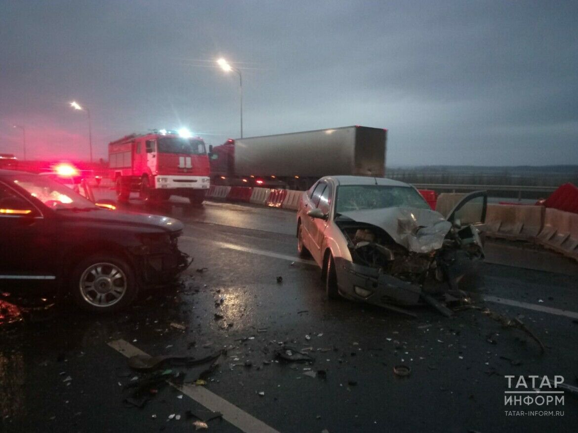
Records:
[[[578,214],[546,208],[538,242],[578,260]]]

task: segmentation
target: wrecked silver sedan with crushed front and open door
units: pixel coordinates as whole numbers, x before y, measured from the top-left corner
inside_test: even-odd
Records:
[[[464,197],[447,218],[413,186],[386,178],[321,178],[297,212],[298,250],[321,267],[329,298],[341,295],[395,311],[460,293],[464,262],[483,257],[479,226],[486,192]]]

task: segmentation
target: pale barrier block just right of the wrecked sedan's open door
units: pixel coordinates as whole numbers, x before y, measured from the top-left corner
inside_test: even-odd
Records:
[[[488,204],[486,233],[506,239],[531,240],[542,230],[543,206]]]

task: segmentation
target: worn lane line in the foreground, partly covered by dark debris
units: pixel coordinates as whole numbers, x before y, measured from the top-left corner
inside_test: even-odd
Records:
[[[148,356],[142,350],[123,339],[110,341],[108,345],[127,358],[135,355]],[[265,424],[263,421],[249,415],[249,413],[244,412],[244,410],[238,408],[232,403],[229,403],[224,398],[219,397],[217,394],[212,393],[203,386],[195,386],[189,384],[176,385],[172,382],[169,382],[169,384],[179,390],[181,393],[191,397],[192,400],[195,400],[199,404],[205,406],[205,408],[212,410],[213,412],[221,412],[225,420],[235,425],[235,427],[239,428],[241,431],[246,433],[279,433],[277,430],[269,427],[269,425]]]

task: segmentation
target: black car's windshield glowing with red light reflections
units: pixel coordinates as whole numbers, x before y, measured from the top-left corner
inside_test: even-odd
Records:
[[[65,185],[45,176],[35,174],[17,174],[14,185],[20,186],[29,195],[54,209],[98,209],[92,201],[72,191]]]

